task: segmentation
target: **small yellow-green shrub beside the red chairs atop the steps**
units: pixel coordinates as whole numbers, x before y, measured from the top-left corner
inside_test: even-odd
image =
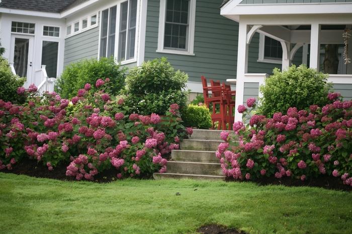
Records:
[[[184,125],[200,129],[209,129],[212,127],[211,115],[209,109],[205,106],[188,105],[182,113]]]

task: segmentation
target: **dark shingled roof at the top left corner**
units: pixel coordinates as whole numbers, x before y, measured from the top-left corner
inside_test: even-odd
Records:
[[[0,8],[60,13],[86,0],[2,0]]]

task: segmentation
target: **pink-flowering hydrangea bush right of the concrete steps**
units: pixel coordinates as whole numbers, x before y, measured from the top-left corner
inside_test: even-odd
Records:
[[[340,177],[352,186],[352,100],[339,93],[328,94],[329,103],[309,109],[291,107],[273,118],[251,115],[255,99],[240,105],[249,124],[235,122],[234,134],[222,132],[216,157],[224,175],[255,180],[263,176],[284,176],[305,180],[326,174]]]

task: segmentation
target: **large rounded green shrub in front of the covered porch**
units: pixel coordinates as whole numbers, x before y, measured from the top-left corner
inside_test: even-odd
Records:
[[[292,65],[287,71],[274,69],[274,74],[260,87],[259,113],[268,117],[275,112],[286,113],[289,107],[305,109],[310,105],[324,106],[331,84],[327,75],[307,68],[305,65]]]

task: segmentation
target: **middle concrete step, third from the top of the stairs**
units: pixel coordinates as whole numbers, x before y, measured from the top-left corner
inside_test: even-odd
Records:
[[[215,156],[215,151],[172,150],[171,159],[185,162],[219,163],[219,159]]]

